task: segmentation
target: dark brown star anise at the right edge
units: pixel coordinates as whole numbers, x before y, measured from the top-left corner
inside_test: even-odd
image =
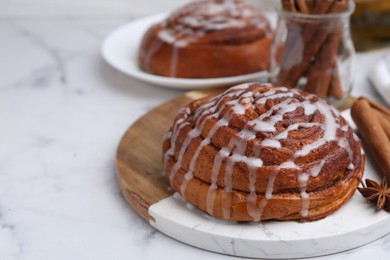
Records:
[[[386,177],[382,179],[381,184],[366,179],[366,185],[362,183],[363,188],[358,187],[359,192],[370,202],[376,204],[376,210],[381,209],[390,212],[390,187],[387,187]]]

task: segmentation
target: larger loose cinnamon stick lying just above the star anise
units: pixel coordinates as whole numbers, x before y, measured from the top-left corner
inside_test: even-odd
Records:
[[[352,105],[351,116],[379,168],[390,181],[390,139],[381,127],[381,118],[377,117],[366,99],[359,99]]]

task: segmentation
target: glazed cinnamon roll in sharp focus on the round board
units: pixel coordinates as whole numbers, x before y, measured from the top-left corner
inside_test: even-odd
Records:
[[[308,221],[351,198],[364,152],[317,96],[247,83],[182,108],[163,141],[163,164],[173,189],[214,217]]]

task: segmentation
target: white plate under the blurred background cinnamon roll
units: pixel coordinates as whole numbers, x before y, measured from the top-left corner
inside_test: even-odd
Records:
[[[177,89],[210,88],[221,85],[237,84],[245,81],[265,81],[266,71],[234,77],[210,79],[184,79],[162,77],[142,71],[138,67],[137,53],[145,31],[154,23],[162,21],[168,14],[156,14],[133,20],[112,33],[103,42],[103,58],[112,67],[141,81]]]

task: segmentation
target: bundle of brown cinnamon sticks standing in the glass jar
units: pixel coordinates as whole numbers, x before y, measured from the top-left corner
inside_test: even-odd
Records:
[[[320,16],[345,12],[349,7],[349,1],[282,0],[284,3],[282,6],[289,12]],[[332,19],[318,18],[307,22],[301,20],[301,30],[295,30],[298,35],[295,37],[288,35],[277,76],[278,84],[294,88],[298,86],[302,77],[306,77],[304,88],[306,91],[322,98],[330,96],[335,99],[343,98],[342,81],[338,71],[338,49],[343,24],[338,17]],[[295,23],[292,19],[289,22]],[[287,28],[289,28],[288,24]]]

